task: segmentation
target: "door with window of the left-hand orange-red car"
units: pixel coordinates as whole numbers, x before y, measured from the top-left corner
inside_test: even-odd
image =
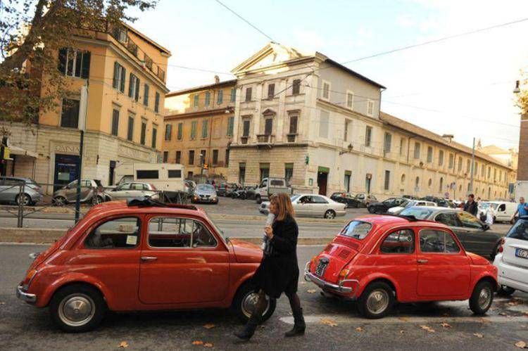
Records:
[[[152,215],[139,271],[139,300],[144,304],[218,302],[227,296],[230,255],[203,220]]]

